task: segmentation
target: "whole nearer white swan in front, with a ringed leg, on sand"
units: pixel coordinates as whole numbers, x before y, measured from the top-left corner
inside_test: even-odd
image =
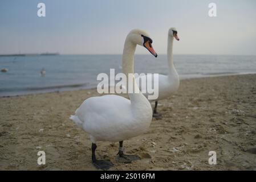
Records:
[[[127,35],[123,51],[123,73],[133,74],[133,57],[137,44],[147,48],[155,57],[152,40],[142,30],[132,30]],[[133,75],[133,88],[139,91]],[[79,127],[86,131],[92,142],[92,163],[96,168],[108,169],[113,166],[109,160],[96,160],[96,141],[119,142],[120,159],[137,160],[134,155],[123,154],[123,140],[143,134],[152,121],[152,108],[147,98],[140,92],[129,93],[130,100],[116,95],[91,97],[71,115]]]

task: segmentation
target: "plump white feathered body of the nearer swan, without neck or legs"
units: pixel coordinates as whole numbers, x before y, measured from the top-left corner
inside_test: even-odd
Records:
[[[90,134],[92,143],[119,142],[148,129],[152,109],[148,104],[141,103],[141,107],[144,109],[133,108],[130,100],[116,95],[91,97],[83,102],[75,115],[71,115],[71,119]]]

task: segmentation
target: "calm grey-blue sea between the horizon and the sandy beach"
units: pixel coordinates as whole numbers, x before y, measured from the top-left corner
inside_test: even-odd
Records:
[[[255,73],[256,56],[174,55],[174,65],[181,79]],[[0,56],[3,68],[9,71],[0,72],[0,96],[95,88],[99,73],[121,72],[121,55]],[[135,72],[166,74],[166,55],[136,55]]]

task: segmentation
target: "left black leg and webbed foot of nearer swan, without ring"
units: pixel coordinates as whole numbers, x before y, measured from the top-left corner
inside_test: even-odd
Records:
[[[96,148],[97,148],[96,144],[92,143],[92,163],[94,164],[94,166],[97,169],[103,169],[103,170],[108,170],[109,168],[114,166],[110,160],[97,160],[95,156]]]

